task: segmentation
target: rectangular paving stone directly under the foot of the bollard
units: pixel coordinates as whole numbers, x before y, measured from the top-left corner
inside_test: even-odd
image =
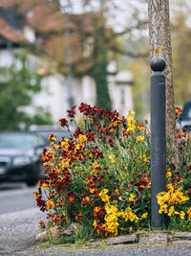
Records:
[[[149,232],[138,235],[138,244],[166,244],[168,232]]]

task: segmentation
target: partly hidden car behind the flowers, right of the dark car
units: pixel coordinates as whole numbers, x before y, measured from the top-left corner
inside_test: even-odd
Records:
[[[61,138],[70,139],[71,133],[64,128],[57,128],[51,126],[36,126],[31,128],[32,132],[40,135],[46,142],[46,146],[50,145],[49,136],[53,133],[56,136],[56,142],[58,142]]]

